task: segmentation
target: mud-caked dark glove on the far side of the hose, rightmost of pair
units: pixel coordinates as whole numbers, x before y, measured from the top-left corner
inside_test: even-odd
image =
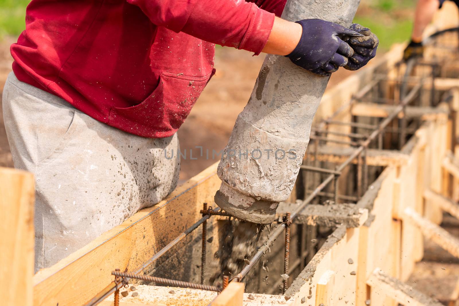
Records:
[[[376,55],[379,40],[375,34],[371,33],[369,28],[365,28],[358,23],[351,25],[351,30],[354,30],[362,37],[343,37],[354,50],[353,56],[349,57],[349,62],[344,66],[347,70],[357,70],[364,67]]]

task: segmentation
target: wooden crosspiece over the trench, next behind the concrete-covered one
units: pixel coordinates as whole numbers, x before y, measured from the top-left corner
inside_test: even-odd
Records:
[[[351,147],[337,147],[333,145],[319,146],[317,150],[317,160],[333,163],[342,163],[353,153],[355,149]],[[314,161],[313,154],[306,154],[305,158]],[[402,153],[399,150],[367,150],[367,164],[369,166],[392,166],[402,165],[409,159],[409,154]],[[357,164],[357,158],[353,160],[353,164]]]

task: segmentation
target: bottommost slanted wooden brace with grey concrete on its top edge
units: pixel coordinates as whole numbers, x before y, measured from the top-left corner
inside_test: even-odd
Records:
[[[401,282],[397,278],[391,277],[376,268],[367,280],[372,289],[371,299],[379,300],[384,296],[391,296],[402,305],[410,306],[442,306],[438,300],[424,295],[413,287]]]

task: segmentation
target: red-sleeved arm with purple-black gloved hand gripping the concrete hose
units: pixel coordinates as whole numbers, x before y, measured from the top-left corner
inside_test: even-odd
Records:
[[[320,75],[329,75],[345,66],[347,57],[353,54],[351,47],[338,35],[364,36],[319,19],[289,22],[255,3],[241,0],[127,1],[139,6],[157,26],[218,45],[252,51],[255,55],[262,51],[285,55],[298,66]],[[270,1],[257,2],[268,7]],[[282,0],[275,2],[281,3],[283,9]],[[280,5],[272,9],[279,14]]]

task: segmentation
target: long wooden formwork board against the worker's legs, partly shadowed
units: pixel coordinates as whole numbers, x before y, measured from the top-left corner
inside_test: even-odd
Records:
[[[175,189],[159,204],[137,212],[56,265],[40,270],[33,278],[34,305],[84,304],[112,282],[114,268],[123,271],[129,266],[132,271],[139,267],[202,217],[199,211],[203,202],[213,205],[221,183],[216,175],[217,164]],[[200,233],[195,231],[186,239]],[[188,251],[179,246],[175,250]],[[201,258],[200,251],[196,255]],[[180,272],[188,270],[199,275],[196,264],[186,264]]]

